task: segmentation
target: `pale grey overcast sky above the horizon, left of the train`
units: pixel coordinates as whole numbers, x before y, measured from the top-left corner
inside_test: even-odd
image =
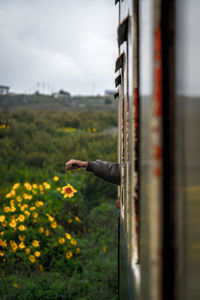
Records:
[[[116,28],[114,0],[0,0],[0,85],[114,89]]]

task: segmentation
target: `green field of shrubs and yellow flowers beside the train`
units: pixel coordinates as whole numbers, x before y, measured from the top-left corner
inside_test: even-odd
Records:
[[[70,158],[117,160],[116,119],[1,112],[1,299],[116,299],[116,187],[65,171]]]

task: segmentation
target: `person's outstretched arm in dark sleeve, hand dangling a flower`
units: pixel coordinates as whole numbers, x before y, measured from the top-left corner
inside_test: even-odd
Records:
[[[121,168],[120,164],[111,163],[108,161],[80,161],[71,159],[66,163],[66,169],[72,170],[77,168],[86,168],[86,171],[94,173],[96,176],[120,185],[121,182]]]

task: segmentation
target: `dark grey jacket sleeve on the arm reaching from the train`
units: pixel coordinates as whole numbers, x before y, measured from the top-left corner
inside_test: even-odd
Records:
[[[120,164],[111,163],[97,159],[96,161],[88,161],[87,171],[93,172],[96,176],[120,185],[121,167]]]

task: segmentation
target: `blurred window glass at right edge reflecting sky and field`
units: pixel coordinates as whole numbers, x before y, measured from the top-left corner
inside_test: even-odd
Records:
[[[178,198],[184,204],[181,224],[181,299],[199,299],[200,284],[200,2],[177,0],[176,103]],[[181,241],[180,241],[181,242]],[[185,249],[185,251],[184,251]],[[184,283],[184,284],[183,284]]]

